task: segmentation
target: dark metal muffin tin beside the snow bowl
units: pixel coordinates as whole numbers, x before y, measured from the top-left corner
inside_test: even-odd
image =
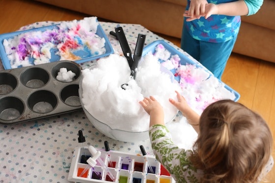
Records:
[[[76,74],[73,81],[56,79],[60,68]],[[58,61],[0,71],[0,123],[13,124],[82,109],[79,80],[82,68]]]

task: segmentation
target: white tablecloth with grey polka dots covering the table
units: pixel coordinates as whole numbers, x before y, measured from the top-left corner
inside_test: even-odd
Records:
[[[39,22],[21,29],[52,24],[56,22]],[[121,55],[119,42],[109,34],[117,26],[123,27],[132,52],[136,47],[138,33],[146,34],[145,46],[163,39],[140,25],[106,22],[100,22],[100,25],[114,52]],[[85,62],[81,66],[88,68],[91,64]],[[0,69],[3,69],[2,65]],[[174,120],[180,120],[181,117],[178,114]],[[84,146],[104,148],[104,141],[107,140],[111,150],[141,154],[139,146],[143,145],[148,154],[153,154],[149,139],[133,143],[110,139],[92,126],[82,110],[20,124],[0,124],[0,183],[68,183],[73,151],[75,147],[82,146],[78,142],[79,130],[83,131],[86,140]]]

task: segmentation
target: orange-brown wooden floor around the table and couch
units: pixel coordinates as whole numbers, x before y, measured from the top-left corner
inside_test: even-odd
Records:
[[[0,33],[12,32],[34,22],[69,21],[88,16],[32,0],[0,0],[0,12]],[[179,39],[161,36],[180,44]],[[263,116],[275,136],[275,64],[233,53],[222,81],[240,93],[240,103]],[[275,182],[275,168],[267,182]]]

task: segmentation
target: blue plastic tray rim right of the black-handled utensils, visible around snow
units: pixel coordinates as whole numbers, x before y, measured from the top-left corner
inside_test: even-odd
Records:
[[[152,43],[150,43],[149,45],[147,45],[142,52],[142,56],[145,56],[148,52],[155,52],[155,48],[159,45],[162,44],[165,49],[171,53],[171,55],[179,55],[180,57],[180,62],[182,65],[186,65],[186,64],[192,64],[192,65],[196,65],[196,67],[198,68],[203,68],[201,65],[197,64],[196,62],[192,61],[190,58],[188,58],[186,55],[184,55],[182,52],[179,52],[178,50],[176,50],[174,47],[172,47],[171,45],[169,45],[168,43],[166,43],[164,40],[158,40],[158,41],[154,41]],[[163,60],[159,60],[160,62],[163,62]],[[174,70],[170,70],[173,74],[175,74]],[[208,72],[210,75],[213,76],[213,74],[209,71],[206,70],[206,72]],[[220,79],[219,79],[220,83],[223,83]],[[235,95],[235,99],[234,101],[237,102],[240,99],[240,94],[238,92],[236,92],[235,90],[233,90],[231,87],[229,87],[228,85],[224,84],[224,88],[229,90],[230,92],[233,92]]]

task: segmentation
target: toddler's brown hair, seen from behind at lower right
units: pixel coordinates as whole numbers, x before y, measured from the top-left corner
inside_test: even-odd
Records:
[[[254,183],[272,153],[264,119],[246,106],[221,100],[201,114],[191,161],[204,171],[203,183]]]

